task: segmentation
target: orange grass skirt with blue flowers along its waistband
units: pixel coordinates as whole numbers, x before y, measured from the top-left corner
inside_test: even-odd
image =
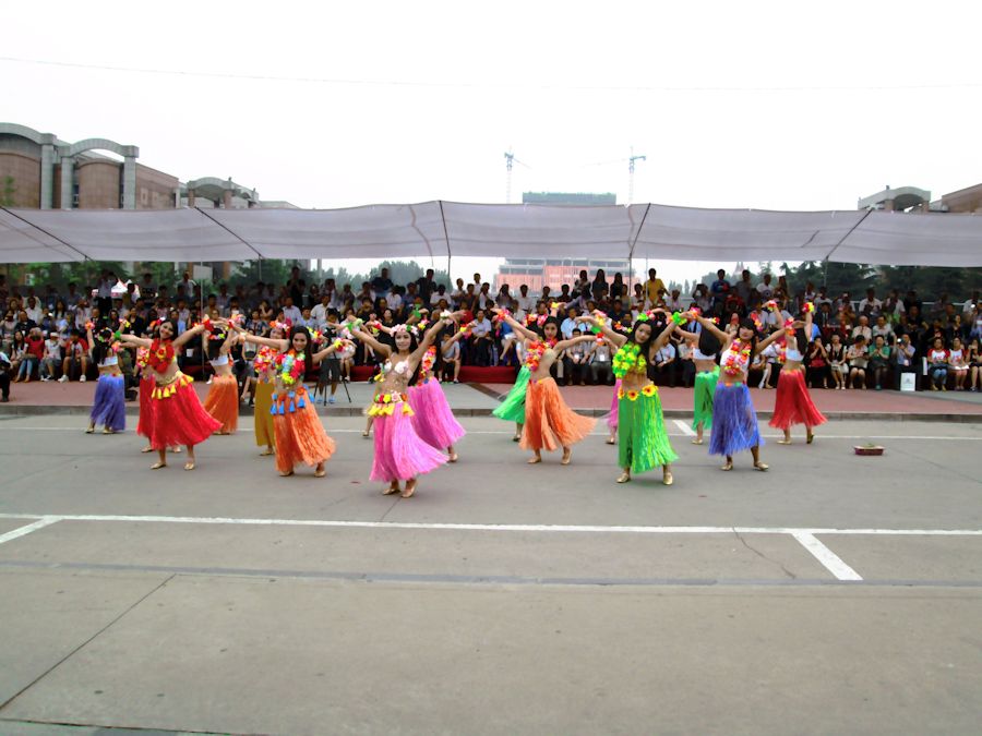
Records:
[[[327,436],[313,408],[307,387],[273,396],[273,432],[276,437],[276,469],[288,473],[298,462],[315,466],[334,455],[334,441]]]

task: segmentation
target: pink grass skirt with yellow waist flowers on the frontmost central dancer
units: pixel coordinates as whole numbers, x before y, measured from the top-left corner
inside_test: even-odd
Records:
[[[388,399],[383,402],[383,399]],[[446,456],[416,433],[412,409],[398,394],[380,394],[369,410],[374,417],[373,481],[408,481],[446,462]]]

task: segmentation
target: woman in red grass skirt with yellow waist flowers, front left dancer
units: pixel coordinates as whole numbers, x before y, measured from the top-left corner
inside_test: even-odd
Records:
[[[135,335],[121,335],[120,341],[142,348],[149,348],[147,365],[154,371],[155,386],[151,394],[149,441],[157,450],[159,460],[151,468],[167,467],[167,448],[183,445],[188,448],[184,470],[194,470],[194,446],[207,439],[221,424],[215,421],[201,406],[194,391],[194,382],[181,373],[177,364],[177,351],[195,335],[204,331],[203,325],[177,335],[177,325],[171,319],[160,323],[159,337],[149,340]]]

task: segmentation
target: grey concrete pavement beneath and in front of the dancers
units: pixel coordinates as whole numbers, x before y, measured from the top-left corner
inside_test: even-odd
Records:
[[[0,734],[978,733],[982,423],[836,421],[722,473],[672,419],[666,487],[616,485],[600,427],[528,467],[463,421],[399,499],[359,418],[316,480],[249,419],[187,473],[0,417]]]

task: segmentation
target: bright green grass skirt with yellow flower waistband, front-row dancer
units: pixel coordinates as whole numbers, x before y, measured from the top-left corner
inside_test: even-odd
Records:
[[[637,398],[623,395],[618,399],[618,464],[632,473],[643,473],[679,459],[664,429],[658,388],[637,393]],[[633,394],[634,391],[632,391]]]

